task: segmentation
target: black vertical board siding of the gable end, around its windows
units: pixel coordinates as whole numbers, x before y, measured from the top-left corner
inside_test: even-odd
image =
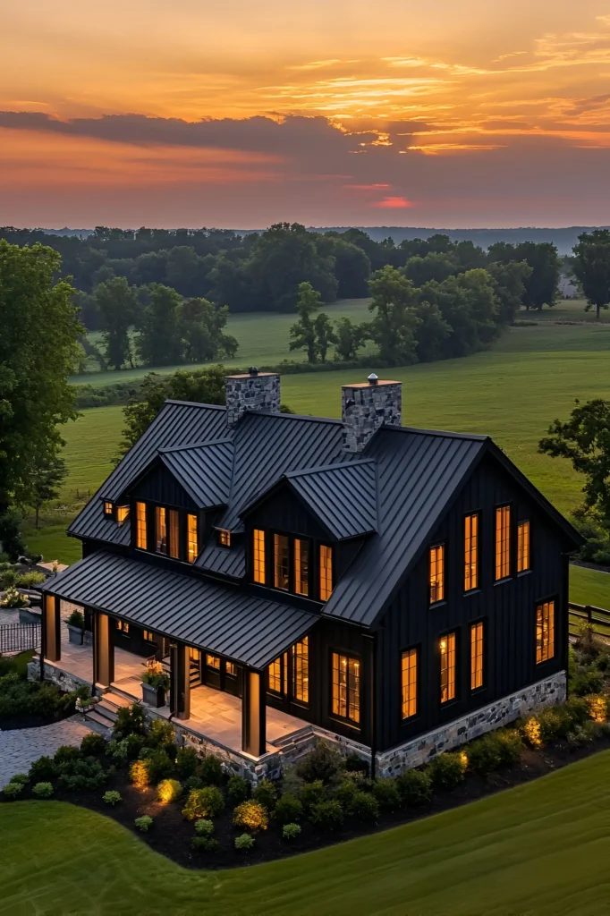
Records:
[[[495,582],[496,507],[511,507],[511,567]],[[463,591],[463,519],[479,512],[479,587]],[[530,522],[531,570],[517,574],[517,521]],[[445,545],[445,600],[429,605],[429,554],[423,551],[387,607],[376,635],[376,739],[395,747],[478,707],[567,668],[568,549],[561,529],[492,457],[476,468],[429,545]],[[536,664],[536,605],[555,600],[555,655]],[[470,689],[470,626],[485,623],[485,682]],[[456,633],[456,698],[441,704],[439,641]],[[401,718],[400,658],[419,648],[418,713]]]

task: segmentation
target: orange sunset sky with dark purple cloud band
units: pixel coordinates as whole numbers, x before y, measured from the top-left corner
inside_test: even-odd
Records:
[[[0,224],[610,224],[610,0],[0,18]]]

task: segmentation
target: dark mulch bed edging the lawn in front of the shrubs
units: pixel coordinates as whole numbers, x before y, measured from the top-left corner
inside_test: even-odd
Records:
[[[538,779],[556,769],[561,769],[592,754],[610,748],[610,737],[602,736],[583,747],[570,747],[561,743],[542,750],[526,750],[517,767],[491,773],[486,779],[472,773],[466,776],[462,785],[451,792],[435,792],[432,803],[424,809],[411,809],[394,813],[382,813],[375,825],[364,824],[355,818],[346,817],[343,829],[334,834],[324,834],[312,824],[303,820],[302,831],[295,840],[284,840],[281,827],[272,820],[268,829],[256,834],[256,845],[247,852],[238,852],[234,848],[234,838],[243,830],[232,823],[233,812],[225,810],[223,815],[214,818],[214,837],[220,843],[220,849],[214,853],[191,850],[191,839],[195,835],[192,823],[182,816],[181,802],[160,804],[155,789],[137,790],[127,780],[127,767],[122,766],[114,777],[110,778],[102,789],[86,791],[65,791],[56,787],[53,798],[56,801],[71,802],[82,805],[114,818],[127,829],[136,833],[151,848],[168,856],[180,866],[188,868],[232,868],[243,865],[256,865],[273,859],[285,858],[298,853],[309,852],[321,846],[333,845],[357,836],[376,833],[395,827],[401,823],[419,820],[429,814],[435,814],[456,808],[476,799],[493,795],[512,786],[522,785]],[[103,761],[107,765],[114,763],[110,759]],[[19,797],[30,797],[30,787],[26,787]],[[121,793],[122,801],[114,807],[102,801],[104,791],[115,789]],[[8,802],[7,802],[8,803]],[[136,830],[136,817],[149,814],[154,818],[153,825],[147,834]]]

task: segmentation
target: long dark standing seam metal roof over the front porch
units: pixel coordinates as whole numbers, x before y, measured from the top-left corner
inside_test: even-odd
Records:
[[[319,619],[236,586],[105,551],[74,563],[43,588],[257,671],[305,636]]]

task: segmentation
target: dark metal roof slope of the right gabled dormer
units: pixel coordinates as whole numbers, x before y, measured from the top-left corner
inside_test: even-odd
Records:
[[[333,538],[370,534],[377,527],[376,463],[354,461],[285,475],[291,488]]]

